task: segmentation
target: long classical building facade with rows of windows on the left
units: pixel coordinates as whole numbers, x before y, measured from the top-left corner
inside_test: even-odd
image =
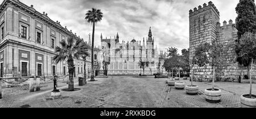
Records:
[[[67,75],[66,61],[55,63],[55,48],[68,37],[80,39],[76,33],[53,22],[47,13],[40,13],[34,6],[18,0],[5,0],[0,7],[1,77]],[[83,39],[82,39],[83,40]],[[84,74],[84,61],[75,59],[75,76]],[[90,76],[90,58],[86,60],[86,72]],[[88,72],[89,71],[89,72]]]

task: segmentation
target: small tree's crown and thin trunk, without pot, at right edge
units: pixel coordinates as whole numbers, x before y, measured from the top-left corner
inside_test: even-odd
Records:
[[[238,53],[238,58],[242,57],[250,63],[250,98],[251,98],[251,71],[253,70],[253,63],[256,59],[256,35],[254,33],[246,32],[242,35],[240,42],[237,44],[237,48],[241,51]]]

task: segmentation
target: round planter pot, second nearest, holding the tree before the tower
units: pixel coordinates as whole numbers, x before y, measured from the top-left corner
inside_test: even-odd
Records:
[[[221,101],[221,90],[217,88],[214,88],[214,91],[212,91],[212,88],[206,89],[204,94],[209,103],[219,103]]]

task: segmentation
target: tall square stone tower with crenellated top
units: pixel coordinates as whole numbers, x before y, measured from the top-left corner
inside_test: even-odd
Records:
[[[189,10],[189,52],[190,60],[195,54],[195,48],[203,42],[211,42],[217,38],[217,23],[220,22],[220,12],[212,2],[203,7]],[[193,67],[196,78],[211,79],[212,67]],[[202,70],[203,69],[203,70]]]

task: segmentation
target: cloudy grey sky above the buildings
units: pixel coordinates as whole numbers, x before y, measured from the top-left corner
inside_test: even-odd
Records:
[[[0,0],[1,2],[3,0]],[[96,25],[96,45],[103,37],[114,37],[131,41],[133,38],[143,41],[149,27],[159,44],[158,48],[174,46],[179,50],[189,48],[188,11],[209,0],[20,0],[26,5],[34,5],[39,12],[45,11],[53,20],[80,37],[88,40],[92,25],[85,22],[86,11],[95,7],[101,9],[104,18]],[[239,0],[212,0],[221,15],[220,22],[236,19],[236,5]]]

